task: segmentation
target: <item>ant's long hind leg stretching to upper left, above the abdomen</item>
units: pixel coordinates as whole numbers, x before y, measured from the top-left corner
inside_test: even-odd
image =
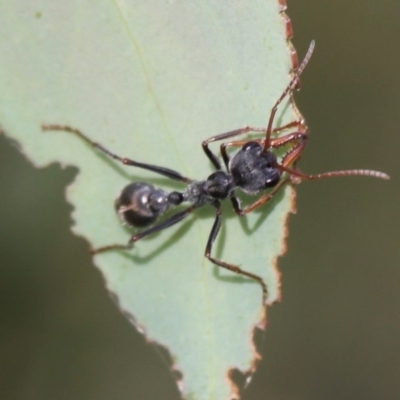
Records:
[[[129,166],[133,166],[133,167],[146,169],[148,171],[155,172],[156,174],[160,174],[160,175],[166,176],[167,178],[174,179],[177,181],[186,182],[186,183],[192,182],[192,179],[189,179],[189,178],[181,175],[179,172],[174,171],[172,169],[165,168],[165,167],[159,167],[157,165],[152,165],[152,164],[140,163],[140,162],[131,160],[129,158],[120,157],[120,156],[112,153],[108,149],[106,149],[100,143],[96,143],[96,142],[92,141],[91,139],[89,139],[80,130],[71,128],[70,126],[67,126],[67,125],[45,125],[44,124],[44,125],[42,125],[42,129],[44,131],[64,131],[64,132],[73,133],[74,135],[78,136],[79,138],[84,140],[86,143],[88,143],[92,147],[96,148],[97,150],[100,150],[107,156],[111,157],[114,160],[121,162],[124,165],[129,165]]]

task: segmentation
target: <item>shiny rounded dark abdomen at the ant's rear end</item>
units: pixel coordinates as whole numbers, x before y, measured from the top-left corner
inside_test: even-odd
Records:
[[[115,208],[122,221],[138,228],[151,225],[168,207],[168,194],[144,182],[125,186],[115,201]]]

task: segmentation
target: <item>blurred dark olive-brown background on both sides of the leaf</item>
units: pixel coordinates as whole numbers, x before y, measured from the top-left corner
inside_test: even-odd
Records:
[[[311,129],[302,169],[392,180],[298,187],[283,301],[243,399],[399,399],[400,2],[288,3],[300,58],[317,42],[296,95]],[[34,169],[4,137],[0,160],[0,398],[178,400],[69,230],[76,170]]]

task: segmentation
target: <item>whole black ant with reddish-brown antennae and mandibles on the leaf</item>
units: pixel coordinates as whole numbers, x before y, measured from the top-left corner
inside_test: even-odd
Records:
[[[301,179],[311,180],[348,175],[364,175],[389,179],[389,176],[383,172],[365,169],[325,172],[317,175],[305,174],[296,168],[296,163],[300,159],[306,146],[308,128],[305,121],[303,119],[298,119],[278,128],[272,127],[279,104],[293,91],[300,74],[303,72],[311,58],[314,46],[315,43],[312,41],[303,62],[272,108],[266,129],[246,126],[241,129],[213,136],[202,143],[204,152],[216,168],[216,172],[213,172],[202,181],[190,179],[169,168],[140,163],[129,158],[120,157],[107,150],[101,144],[93,142],[78,129],[64,125],[43,125],[42,128],[45,131],[53,130],[73,133],[83,139],[86,143],[124,165],[153,171],[156,174],[163,175],[169,179],[181,181],[187,184],[185,191],[173,191],[170,193],[155,188],[153,185],[146,182],[134,182],[127,185],[116,200],[115,208],[120,218],[133,227],[146,228],[154,224],[167,210],[179,206],[183,202],[188,202],[190,206],[176,212],[150,228],[135,233],[126,245],[113,244],[104,246],[92,250],[91,253],[98,254],[109,250],[130,249],[133,246],[133,243],[145,236],[175,225],[187,217],[192,211],[206,204],[210,204],[216,208],[216,216],[208,237],[205,257],[220,267],[247,276],[248,278],[259,282],[263,291],[263,304],[265,304],[267,299],[267,286],[260,276],[245,271],[234,264],[216,259],[211,255],[212,245],[221,227],[221,202],[229,199],[232,202],[236,214],[243,216],[263,206],[289,182],[298,183]],[[290,128],[297,128],[297,130],[278,138],[271,137],[272,134],[277,134]],[[251,141],[234,140],[221,144],[220,151],[226,167],[226,171],[224,171],[218,157],[209,149],[209,144],[218,140],[226,140],[239,135],[255,132],[263,133],[264,136]],[[292,144],[292,148],[281,158],[280,161],[278,161],[273,149],[289,144]],[[228,147],[240,147],[240,150],[230,158],[227,152]],[[236,189],[241,189],[244,193],[255,196],[269,188],[273,189],[263,194],[258,200],[245,208],[241,207],[241,203],[235,194]]]

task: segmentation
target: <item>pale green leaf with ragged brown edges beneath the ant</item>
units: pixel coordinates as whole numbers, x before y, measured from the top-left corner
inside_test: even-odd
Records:
[[[266,126],[292,68],[277,0],[3,2],[0,54],[0,124],[37,166],[79,168],[68,188],[73,229],[93,247],[129,238],[113,208],[124,185],[183,186],[120,166],[67,133],[43,133],[42,123],[204,179],[212,168],[201,141]],[[281,110],[280,124],[297,117]],[[279,297],[274,261],[291,204],[290,188],[242,220],[227,204],[214,247],[265,279],[269,303]],[[94,260],[122,310],[171,353],[190,399],[229,398],[228,371],[254,367],[252,332],[263,319],[259,285],[203,257],[213,218],[205,207],[131,252]]]

